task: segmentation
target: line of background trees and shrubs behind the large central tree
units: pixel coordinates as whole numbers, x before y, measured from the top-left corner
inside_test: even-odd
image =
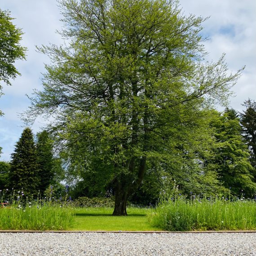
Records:
[[[153,163],[147,169],[139,189],[130,195],[130,202],[154,205],[160,193],[172,194],[241,194],[252,198],[256,195],[256,105],[252,100],[244,102],[246,110],[238,115],[234,109],[224,112],[208,110],[202,114],[197,133],[203,132],[199,141],[194,141],[196,152],[184,146],[170,159],[170,163]],[[54,134],[54,133],[53,133]],[[188,136],[181,134],[180,136]],[[195,134],[190,134],[195,139]],[[197,134],[199,136],[199,134]],[[53,156],[54,141],[49,132],[34,136],[25,128],[16,144],[11,162],[0,162],[0,188],[21,190],[28,194],[41,194],[65,190],[75,199],[81,196],[106,197],[115,194],[115,185],[107,172],[107,164],[95,162],[91,170],[80,162],[67,163],[67,151]],[[192,141],[192,139],[191,139]],[[199,145],[200,144],[200,145]],[[79,168],[79,170],[78,170]],[[79,174],[78,174],[79,173]],[[61,182],[62,181],[62,182]],[[178,188],[178,190],[177,190]],[[47,193],[46,193],[47,194]]]

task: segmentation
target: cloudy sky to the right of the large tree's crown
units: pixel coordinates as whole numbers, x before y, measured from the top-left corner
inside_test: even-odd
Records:
[[[241,104],[250,97],[256,100],[256,1],[252,0],[180,0],[185,14],[208,17],[203,23],[203,35],[209,53],[207,60],[214,60],[226,53],[230,72],[246,66],[242,77],[234,86],[236,97],[230,106],[242,111]]]

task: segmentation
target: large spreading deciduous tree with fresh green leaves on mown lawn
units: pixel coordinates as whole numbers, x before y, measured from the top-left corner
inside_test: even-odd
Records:
[[[126,215],[128,196],[150,166],[183,168],[195,154],[200,144],[191,146],[191,134],[200,110],[225,102],[241,71],[227,74],[224,56],[201,62],[205,19],[183,16],[178,1],[61,0],[60,6],[67,43],[40,49],[53,64],[28,114],[54,115],[68,165],[112,182],[113,215]]]

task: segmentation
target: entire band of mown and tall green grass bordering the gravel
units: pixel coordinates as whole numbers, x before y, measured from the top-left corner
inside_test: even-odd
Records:
[[[254,200],[179,197],[162,200],[156,209],[128,207],[128,216],[112,216],[112,212],[107,207],[14,201],[10,207],[0,208],[0,230],[256,230]]]

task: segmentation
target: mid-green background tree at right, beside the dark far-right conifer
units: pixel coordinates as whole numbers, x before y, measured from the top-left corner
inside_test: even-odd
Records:
[[[238,115],[235,110],[226,109],[223,115],[216,113],[212,116],[216,148],[209,167],[212,164],[212,168],[218,170],[219,179],[234,194],[243,190],[247,197],[252,197],[256,193],[256,183],[253,182],[250,154],[241,135]]]

